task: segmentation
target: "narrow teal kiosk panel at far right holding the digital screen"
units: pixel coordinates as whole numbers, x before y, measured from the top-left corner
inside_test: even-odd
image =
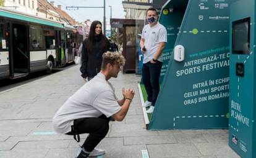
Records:
[[[229,146],[242,158],[256,157],[255,0],[231,5]]]

